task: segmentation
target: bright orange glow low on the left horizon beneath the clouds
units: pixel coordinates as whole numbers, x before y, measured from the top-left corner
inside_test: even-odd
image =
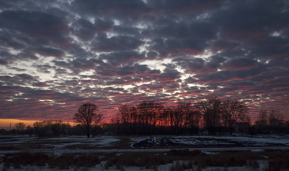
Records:
[[[33,127],[34,122],[37,122],[40,120],[20,120],[20,119],[0,119],[0,129],[10,129],[10,123],[11,123],[11,129],[16,128],[15,124],[18,122],[23,122],[25,123],[25,128],[26,126],[31,126]],[[68,122],[71,126],[74,126],[74,122]]]

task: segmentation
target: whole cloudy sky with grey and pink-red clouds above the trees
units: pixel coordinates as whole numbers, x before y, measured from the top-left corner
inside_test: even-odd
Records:
[[[237,98],[289,112],[289,3],[0,1],[0,118]]]

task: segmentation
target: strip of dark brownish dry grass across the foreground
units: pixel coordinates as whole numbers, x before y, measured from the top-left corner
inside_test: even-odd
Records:
[[[101,157],[100,157],[101,156]],[[220,151],[218,154],[207,155],[200,150],[170,150],[169,152],[124,152],[117,153],[88,153],[49,155],[44,152],[21,152],[7,154],[1,158],[4,168],[21,169],[23,166],[49,166],[55,169],[82,168],[87,170],[106,161],[104,168],[114,167],[125,170],[127,166],[138,166],[158,170],[158,166],[172,163],[168,171],[201,170],[208,166],[220,168],[246,166],[252,170],[260,170],[258,161],[266,161],[268,165],[263,170],[289,170],[289,150],[251,151]],[[175,161],[175,162],[174,162]],[[262,169],[262,168],[261,168]]]

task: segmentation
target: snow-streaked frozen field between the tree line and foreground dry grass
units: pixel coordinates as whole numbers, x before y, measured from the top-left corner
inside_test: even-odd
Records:
[[[126,139],[126,144],[118,142]],[[123,143],[123,142],[122,142]],[[139,136],[112,137],[68,136],[38,138],[28,136],[1,137],[0,150],[51,149],[51,150],[104,150],[104,149],[152,149],[152,148],[214,148],[214,147],[271,147],[289,146],[288,135],[253,136]]]

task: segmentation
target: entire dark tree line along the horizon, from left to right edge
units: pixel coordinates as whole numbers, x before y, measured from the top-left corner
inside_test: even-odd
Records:
[[[185,135],[198,134],[205,130],[209,134],[231,134],[237,123],[250,123],[249,107],[237,99],[207,98],[194,104],[189,102],[166,106],[156,101],[142,101],[136,105],[120,105],[118,112],[103,123],[103,114],[93,103],[79,106],[71,126],[61,120],[38,121],[33,127],[19,122],[12,133],[35,134],[39,137],[61,135],[83,135],[87,137],[109,135]],[[283,114],[275,109],[262,109],[258,120],[250,127],[250,133],[284,133],[289,122],[284,122]],[[286,125],[287,123],[287,125]],[[246,130],[247,133],[249,130]],[[286,132],[285,131],[285,132]],[[1,129],[0,133],[5,130]],[[7,133],[7,132],[6,132]]]

